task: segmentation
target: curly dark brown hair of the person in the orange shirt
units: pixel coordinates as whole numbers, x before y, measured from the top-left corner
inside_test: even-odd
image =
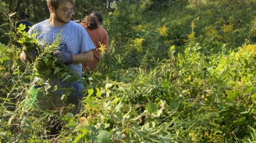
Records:
[[[85,27],[93,30],[98,28],[98,18],[94,15],[88,15],[86,17],[84,17],[84,20],[82,20],[82,23],[84,23]]]

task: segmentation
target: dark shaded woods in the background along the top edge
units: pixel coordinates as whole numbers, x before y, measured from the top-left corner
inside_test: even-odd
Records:
[[[102,15],[107,15],[109,12],[113,12],[118,5],[128,7],[128,5],[132,5],[134,3],[140,5],[144,2],[139,0],[76,0],[76,5],[74,7],[74,9],[76,9],[76,14],[72,16],[72,19],[82,20],[92,11],[100,11]],[[154,5],[154,3],[158,3],[160,5],[168,6],[171,1],[151,0],[150,3],[152,3],[152,5]],[[0,5],[0,37],[2,38],[1,42],[4,44],[7,44],[8,38],[3,36],[3,34],[9,30],[13,30],[15,23],[19,21],[19,13],[21,11],[25,11],[25,13],[30,16],[29,21],[32,24],[49,18],[49,9],[45,0],[0,0]],[[16,14],[8,17],[13,13]]]

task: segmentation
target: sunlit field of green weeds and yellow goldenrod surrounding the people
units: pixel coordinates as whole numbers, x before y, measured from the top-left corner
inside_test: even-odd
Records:
[[[110,52],[82,79],[79,115],[32,102],[31,81],[47,71],[19,60],[21,45],[36,41],[13,32],[17,14],[0,4],[0,142],[256,142],[256,0],[130,0],[102,9]],[[36,12],[32,23],[43,21]],[[49,136],[57,124],[58,136]]]

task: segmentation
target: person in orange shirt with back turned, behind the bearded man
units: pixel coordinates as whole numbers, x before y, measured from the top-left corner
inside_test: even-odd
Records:
[[[102,14],[98,11],[94,11],[90,15],[84,17],[82,23],[80,23],[90,35],[92,42],[94,43],[96,50],[93,50],[93,61],[83,64],[83,70],[90,73],[95,70],[100,58],[100,47],[104,46],[104,54],[108,53],[108,32],[100,24],[102,24]]]

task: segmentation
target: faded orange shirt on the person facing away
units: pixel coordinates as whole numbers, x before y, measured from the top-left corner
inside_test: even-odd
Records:
[[[84,24],[80,23],[84,28]],[[94,69],[97,67],[98,62],[99,62],[99,58],[100,58],[100,50],[98,50],[98,48],[100,48],[100,44],[104,44],[105,46],[105,51],[104,53],[108,53],[109,50],[109,44],[108,44],[108,32],[106,32],[106,30],[104,28],[102,28],[102,26],[98,26],[98,28],[93,29],[93,30],[89,30],[88,28],[85,28],[85,30],[88,32],[90,38],[92,39],[92,42],[94,43],[96,49],[93,50],[93,61],[83,64],[83,70],[86,70],[87,72],[90,71],[94,71]]]

